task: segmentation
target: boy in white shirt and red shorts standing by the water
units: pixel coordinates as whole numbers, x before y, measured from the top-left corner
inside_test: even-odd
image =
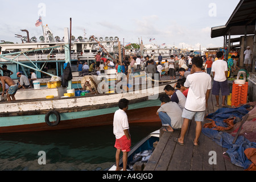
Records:
[[[127,166],[127,156],[128,152],[130,152],[131,147],[131,137],[129,133],[129,122],[126,111],[128,110],[129,101],[125,98],[119,100],[118,107],[119,110],[115,111],[114,121],[113,121],[113,133],[115,135],[115,148],[117,148],[117,152],[115,153],[115,160],[117,169],[116,171],[120,171],[119,168],[119,157],[121,151],[123,152],[123,171],[126,171]]]

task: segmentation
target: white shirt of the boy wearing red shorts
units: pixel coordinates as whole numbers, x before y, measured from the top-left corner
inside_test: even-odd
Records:
[[[115,111],[113,126],[116,139],[122,138],[125,135],[123,130],[129,129],[127,114],[122,109]]]

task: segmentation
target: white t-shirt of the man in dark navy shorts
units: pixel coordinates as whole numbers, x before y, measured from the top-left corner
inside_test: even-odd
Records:
[[[214,61],[212,64],[212,72],[215,72],[214,81],[226,81],[225,72],[228,71],[228,63],[224,60]]]

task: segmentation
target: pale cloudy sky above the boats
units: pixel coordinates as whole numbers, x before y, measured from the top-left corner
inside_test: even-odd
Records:
[[[43,24],[53,36],[64,36],[70,26],[76,38],[94,35],[98,38],[118,36],[125,45],[154,43],[178,48],[211,48],[223,46],[223,37],[210,38],[212,27],[228,22],[240,0],[0,0],[0,40],[21,43],[15,34],[30,38],[43,35],[36,20],[42,15]],[[150,39],[155,39],[149,42]]]

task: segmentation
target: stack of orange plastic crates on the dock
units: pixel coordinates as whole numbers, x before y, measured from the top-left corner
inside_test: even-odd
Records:
[[[247,103],[247,93],[248,93],[248,82],[245,82],[244,85],[233,83],[231,106],[237,107],[240,104],[246,104]]]

